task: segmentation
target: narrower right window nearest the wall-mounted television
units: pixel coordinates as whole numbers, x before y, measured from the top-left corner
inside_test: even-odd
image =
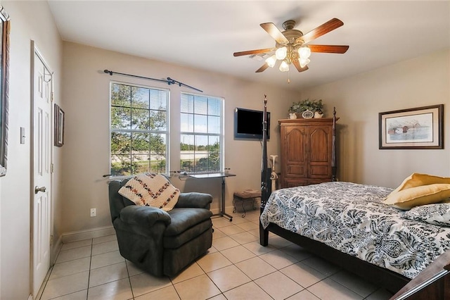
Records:
[[[220,172],[223,167],[224,99],[181,94],[181,171]]]

